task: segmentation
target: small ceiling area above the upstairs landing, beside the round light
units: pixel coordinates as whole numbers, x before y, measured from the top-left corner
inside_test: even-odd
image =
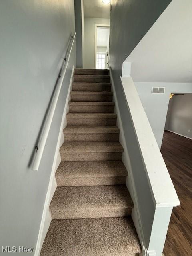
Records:
[[[102,0],[83,0],[85,18],[110,18],[110,4]]]

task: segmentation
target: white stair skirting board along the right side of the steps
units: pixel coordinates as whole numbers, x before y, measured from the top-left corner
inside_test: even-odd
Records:
[[[135,225],[135,228],[136,228],[136,231],[137,231],[137,234],[138,234],[141,246],[142,246],[142,253],[140,253],[140,256],[148,256],[148,251],[146,249],[145,242],[144,242],[144,233],[143,233],[143,229],[142,229],[137,193],[136,193],[134,178],[133,178],[133,174],[132,174],[132,166],[131,166],[131,162],[130,162],[130,158],[129,158],[129,154],[128,154],[128,149],[126,146],[126,140],[125,140],[124,130],[123,130],[123,126],[122,126],[122,120],[121,120],[120,110],[119,110],[119,106],[118,106],[118,100],[117,100],[117,96],[116,96],[116,91],[115,91],[114,80],[112,77],[111,68],[109,68],[109,73],[110,73],[110,80],[111,80],[111,85],[112,85],[113,101],[115,102],[115,113],[117,114],[117,126],[120,129],[119,142],[122,145],[122,147],[124,148],[123,155],[122,155],[122,161],[128,171],[126,186],[129,190],[130,196],[134,202],[134,208],[132,210],[132,220],[134,222],[134,225]]]

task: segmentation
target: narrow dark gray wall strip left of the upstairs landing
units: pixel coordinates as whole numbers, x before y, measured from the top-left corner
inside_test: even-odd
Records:
[[[74,0],[76,30],[76,62],[77,68],[83,68],[84,54],[84,9],[83,0]]]

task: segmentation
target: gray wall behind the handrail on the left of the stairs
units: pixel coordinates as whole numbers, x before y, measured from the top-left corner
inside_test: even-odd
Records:
[[[39,171],[29,162],[74,32],[73,0],[0,1],[0,248],[36,246],[75,46]]]

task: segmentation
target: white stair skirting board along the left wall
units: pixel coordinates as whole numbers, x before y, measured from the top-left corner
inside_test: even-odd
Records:
[[[53,197],[54,192],[55,192],[56,187],[57,187],[56,179],[55,179],[55,172],[56,172],[56,170],[57,170],[57,168],[58,168],[58,166],[61,162],[61,156],[60,156],[59,149],[60,149],[61,145],[64,143],[63,129],[67,125],[66,114],[69,112],[69,106],[68,105],[69,105],[69,101],[70,101],[70,91],[72,90],[74,69],[75,69],[75,67],[73,66],[72,73],[71,73],[71,78],[70,78],[70,84],[69,84],[68,93],[67,93],[66,102],[65,102],[65,107],[64,107],[64,112],[63,112],[63,116],[62,116],[62,121],[61,121],[57,146],[56,146],[56,151],[55,151],[54,161],[53,161],[53,165],[52,165],[52,171],[51,171],[51,175],[50,175],[48,190],[47,190],[46,199],[45,199],[45,203],[44,203],[42,219],[41,219],[41,223],[40,223],[40,229],[39,229],[38,240],[37,240],[34,256],[39,256],[40,255],[40,251],[41,251],[45,236],[47,234],[48,228],[49,228],[50,223],[51,223],[51,214],[50,214],[50,211],[49,211],[49,205],[50,205],[50,202],[52,200],[52,197]]]

